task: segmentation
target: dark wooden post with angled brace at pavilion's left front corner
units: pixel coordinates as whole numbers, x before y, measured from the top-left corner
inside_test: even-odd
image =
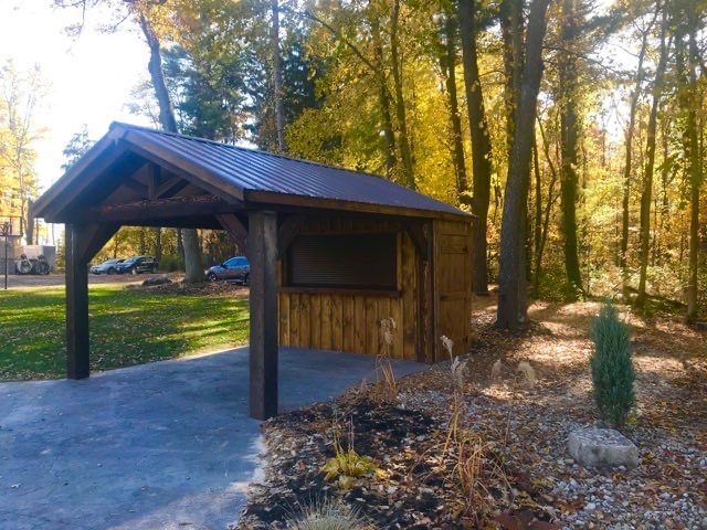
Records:
[[[117,231],[116,225],[67,224],[66,377],[85,379],[91,372],[88,344],[88,262]]]

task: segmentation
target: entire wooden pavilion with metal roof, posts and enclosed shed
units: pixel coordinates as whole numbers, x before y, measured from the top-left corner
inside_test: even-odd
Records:
[[[71,379],[89,373],[88,263],[122,225],[225,230],[249,256],[253,417],[277,414],[279,344],[421,362],[443,335],[468,346],[472,216],[380,177],[115,123],[34,214],[66,224]]]

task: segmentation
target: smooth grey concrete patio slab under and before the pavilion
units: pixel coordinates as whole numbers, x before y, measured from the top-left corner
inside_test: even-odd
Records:
[[[283,349],[281,407],[373,377],[370,356]],[[83,381],[0,383],[0,529],[225,529],[258,473],[247,380],[241,348]]]

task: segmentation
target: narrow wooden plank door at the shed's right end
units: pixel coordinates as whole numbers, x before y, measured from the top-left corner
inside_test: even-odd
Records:
[[[472,225],[437,221],[435,229],[435,351],[442,361],[449,356],[442,336],[454,341],[454,354],[471,346]]]

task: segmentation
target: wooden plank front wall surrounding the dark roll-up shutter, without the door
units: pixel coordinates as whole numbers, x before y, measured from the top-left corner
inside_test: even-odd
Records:
[[[398,359],[416,360],[418,255],[400,223],[350,218],[315,218],[302,234],[393,232],[398,234],[398,293],[313,293],[287,288],[279,293],[279,343],[298,348],[387,353],[380,320],[392,317],[397,325],[390,352]],[[287,264],[282,264],[286,267]],[[281,268],[281,277],[282,276]]]

